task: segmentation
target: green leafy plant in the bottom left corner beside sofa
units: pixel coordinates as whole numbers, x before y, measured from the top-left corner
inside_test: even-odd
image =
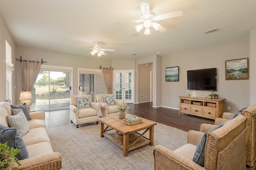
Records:
[[[20,152],[20,149],[13,149],[7,145],[7,142],[4,144],[0,143],[0,170],[15,169],[18,170],[18,166],[20,166],[20,162],[15,155]]]

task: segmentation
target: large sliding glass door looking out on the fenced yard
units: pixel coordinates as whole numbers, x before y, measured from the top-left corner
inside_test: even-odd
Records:
[[[52,69],[50,69],[52,70]],[[31,109],[47,111],[67,109],[70,105],[71,72],[41,69],[32,93]]]

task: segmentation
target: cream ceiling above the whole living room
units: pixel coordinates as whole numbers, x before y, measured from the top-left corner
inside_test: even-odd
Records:
[[[183,10],[183,16],[157,21],[167,28],[150,28],[136,36],[140,2],[156,16]],[[256,27],[255,0],[0,0],[1,14],[16,45],[92,57],[95,41],[107,51],[105,59],[138,59],[167,55],[250,35]],[[218,28],[219,31],[204,34]],[[137,55],[132,55],[132,54]],[[96,57],[96,55],[94,55]]]

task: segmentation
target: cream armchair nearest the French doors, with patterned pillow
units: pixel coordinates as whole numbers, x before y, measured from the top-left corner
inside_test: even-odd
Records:
[[[111,100],[104,100],[104,96],[110,97]],[[121,106],[124,102],[114,101],[113,94],[98,94],[96,96],[97,102],[96,104],[100,105],[100,116],[107,117],[112,115],[118,115],[119,110],[118,106]]]

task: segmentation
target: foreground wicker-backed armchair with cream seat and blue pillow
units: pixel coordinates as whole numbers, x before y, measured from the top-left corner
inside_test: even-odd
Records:
[[[153,149],[154,170],[245,170],[246,117],[239,114],[206,135],[200,166],[193,160],[203,132],[189,131],[187,144],[172,151],[157,145]]]

